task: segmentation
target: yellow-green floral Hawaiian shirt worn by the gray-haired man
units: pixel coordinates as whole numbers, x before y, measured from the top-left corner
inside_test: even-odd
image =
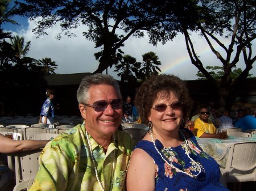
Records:
[[[90,135],[89,141],[104,190],[126,190],[126,169],[134,146],[131,136],[118,130],[106,154]],[[29,190],[101,191],[88,148],[84,124],[61,133],[44,147]]]

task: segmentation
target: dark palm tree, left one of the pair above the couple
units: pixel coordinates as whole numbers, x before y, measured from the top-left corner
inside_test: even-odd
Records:
[[[138,70],[141,67],[141,63],[136,61],[136,58],[125,55],[122,57],[123,61],[115,65],[116,72],[118,77],[121,77],[121,82],[136,82],[138,75]]]

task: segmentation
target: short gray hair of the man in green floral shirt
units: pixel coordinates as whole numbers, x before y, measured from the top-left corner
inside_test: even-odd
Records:
[[[77,101],[80,104],[86,104],[87,101],[90,99],[90,95],[89,95],[90,87],[97,86],[100,84],[113,86],[117,91],[119,98],[120,99],[122,98],[120,87],[118,85],[117,80],[115,80],[111,75],[99,73],[99,74],[89,75],[84,79],[82,79],[79,85],[79,88],[77,89],[77,94],[76,94]]]

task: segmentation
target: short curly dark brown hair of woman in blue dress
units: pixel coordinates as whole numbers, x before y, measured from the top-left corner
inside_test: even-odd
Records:
[[[172,91],[177,99],[183,102],[183,118],[187,119],[193,105],[188,88],[183,80],[175,75],[160,74],[155,75],[143,82],[135,95],[135,105],[137,106],[139,116],[142,122],[147,124],[150,116],[152,104],[156,99],[169,99]]]

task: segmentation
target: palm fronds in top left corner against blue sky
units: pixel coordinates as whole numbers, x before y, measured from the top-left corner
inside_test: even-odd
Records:
[[[12,24],[18,24],[15,22],[15,20],[11,20],[11,16],[14,15],[14,7],[9,9],[10,7],[10,2],[12,0],[0,0],[0,28],[2,23],[12,23]]]

